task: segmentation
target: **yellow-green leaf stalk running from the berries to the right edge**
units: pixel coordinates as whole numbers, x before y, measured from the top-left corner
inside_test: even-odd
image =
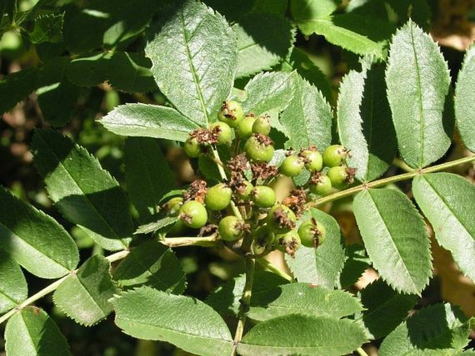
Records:
[[[459,164],[462,163],[469,163],[475,161],[475,154],[470,156],[470,157],[465,157],[461,159],[456,159],[455,161],[450,161],[447,163],[442,163],[438,164],[437,166],[432,166],[428,168],[421,168],[418,170],[413,170],[412,172],[408,173],[403,173],[401,175],[395,175],[392,177],[388,178],[383,178],[383,179],[378,179],[376,181],[370,181],[369,183],[365,184],[360,184],[359,186],[354,186],[352,188],[348,188],[345,190],[342,190],[340,192],[327,195],[326,197],[321,197],[320,199],[316,199],[313,202],[309,202],[305,204],[305,208],[313,208],[316,206],[319,206],[321,204],[325,204],[328,202],[333,202],[334,200],[341,199],[343,197],[348,197],[349,195],[354,195],[356,193],[361,192],[361,190],[365,190],[368,188],[376,188],[379,186],[386,186],[387,184],[395,183],[396,181],[404,181],[406,179],[411,179],[417,175],[424,175],[426,173],[431,173],[431,172],[438,172],[440,170],[444,170],[447,168],[451,168],[454,166],[458,166]]]

